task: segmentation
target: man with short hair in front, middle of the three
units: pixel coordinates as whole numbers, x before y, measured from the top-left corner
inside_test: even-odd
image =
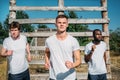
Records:
[[[56,17],[57,33],[46,39],[45,68],[49,69],[50,80],[75,80],[75,67],[81,63],[77,39],[67,34],[68,18]]]

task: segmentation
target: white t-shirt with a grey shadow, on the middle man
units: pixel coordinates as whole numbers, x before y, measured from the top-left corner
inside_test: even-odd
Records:
[[[58,40],[56,35],[47,38],[45,47],[50,50],[50,78],[55,80],[75,80],[76,72],[68,69],[65,61],[74,62],[73,51],[80,49],[78,41],[68,35],[63,41]]]

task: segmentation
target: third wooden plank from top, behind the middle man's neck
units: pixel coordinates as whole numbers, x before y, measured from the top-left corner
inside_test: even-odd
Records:
[[[49,37],[56,34],[56,32],[25,32],[21,34],[26,35],[27,37]],[[68,32],[68,34],[74,37],[92,37],[92,32]],[[109,33],[102,32],[102,36],[108,37]]]

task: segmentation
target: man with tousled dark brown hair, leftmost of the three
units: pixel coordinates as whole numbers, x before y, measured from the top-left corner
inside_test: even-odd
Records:
[[[20,24],[10,24],[10,36],[3,41],[1,56],[8,59],[8,80],[30,80],[28,61],[31,61],[27,38],[20,34]],[[27,59],[26,59],[27,51]]]

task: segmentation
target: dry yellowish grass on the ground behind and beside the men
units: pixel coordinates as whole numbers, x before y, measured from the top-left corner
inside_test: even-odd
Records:
[[[77,72],[87,72],[87,65],[83,64],[76,68]],[[112,80],[119,80],[120,76],[120,56],[111,56]],[[46,73],[43,65],[30,65],[31,74]],[[7,61],[0,57],[0,80],[7,80]]]

